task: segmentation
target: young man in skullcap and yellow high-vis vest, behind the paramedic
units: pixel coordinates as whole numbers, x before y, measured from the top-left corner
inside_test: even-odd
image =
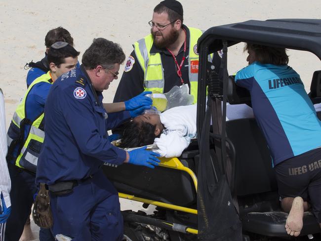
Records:
[[[34,80],[18,105],[10,123],[7,162],[12,182],[12,212],[6,224],[5,240],[19,240],[37,192],[37,161],[44,138],[44,104],[52,83],[74,69],[78,52],[67,42],[51,45],[47,59],[50,71]],[[49,229],[40,230],[40,241],[53,241]]]

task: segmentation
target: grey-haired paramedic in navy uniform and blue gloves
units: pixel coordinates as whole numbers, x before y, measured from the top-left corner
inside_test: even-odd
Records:
[[[73,241],[121,240],[123,220],[118,193],[101,170],[104,162],[154,168],[159,156],[111,145],[107,130],[150,108],[140,94],[124,102],[125,111],[107,114],[102,91],[117,79],[125,55],[117,43],[94,39],[74,69],[52,85],[45,105],[45,139],[36,183],[48,186],[54,236]]]

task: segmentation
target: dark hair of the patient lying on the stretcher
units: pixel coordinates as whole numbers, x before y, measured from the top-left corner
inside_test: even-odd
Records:
[[[155,136],[155,130],[156,124],[152,125],[146,121],[129,121],[124,126],[119,147],[132,148],[151,145],[155,138],[161,136],[161,134]]]

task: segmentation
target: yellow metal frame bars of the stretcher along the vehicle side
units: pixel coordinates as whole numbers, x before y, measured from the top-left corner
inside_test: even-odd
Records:
[[[161,162],[160,162],[159,166],[187,172],[190,175],[190,177],[192,178],[194,186],[195,186],[195,190],[197,192],[197,177],[196,177],[195,173],[190,168],[184,166],[182,164],[182,162],[179,161],[177,158],[160,158],[160,160],[161,160]],[[143,199],[143,198],[135,197],[134,195],[130,195],[130,194],[118,193],[118,195],[120,198],[123,198],[123,199],[144,202],[144,203],[152,204],[155,206],[164,207],[167,209],[173,209],[173,210],[177,210],[177,211],[192,213],[195,215],[198,214],[197,209],[193,209],[193,208],[173,205],[173,204],[169,204],[169,203],[161,202],[161,201]],[[196,234],[196,235],[198,234],[198,230],[192,229],[192,228],[187,228],[186,232],[191,233],[191,234]]]

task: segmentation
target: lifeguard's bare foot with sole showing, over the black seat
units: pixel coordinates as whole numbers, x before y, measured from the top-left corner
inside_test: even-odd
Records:
[[[303,227],[304,206],[303,199],[296,197],[293,200],[290,213],[286,219],[285,230],[290,236],[299,236]]]

